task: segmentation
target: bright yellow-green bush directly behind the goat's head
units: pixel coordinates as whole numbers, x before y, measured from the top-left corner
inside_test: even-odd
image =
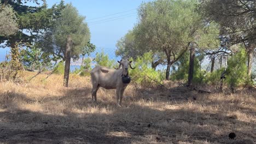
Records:
[[[136,67],[129,71],[129,75],[133,82],[144,85],[145,83],[153,82],[151,79],[158,82],[164,80],[164,77],[159,73],[159,71],[155,71],[151,68],[151,62],[153,60],[152,56],[152,52],[144,53],[143,56],[137,57],[135,63],[132,63],[132,65],[135,65]],[[130,60],[132,61],[132,59]]]

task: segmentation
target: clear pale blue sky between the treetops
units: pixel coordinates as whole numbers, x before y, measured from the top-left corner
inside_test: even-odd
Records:
[[[142,2],[148,1],[150,0],[65,0],[65,3],[72,3],[79,14],[86,17],[91,43],[96,45],[96,51],[103,49],[113,57],[117,41],[137,22],[137,8]],[[60,0],[46,0],[46,3],[51,7],[55,3],[59,4]],[[6,51],[9,49],[0,48],[0,61],[4,60]]]

